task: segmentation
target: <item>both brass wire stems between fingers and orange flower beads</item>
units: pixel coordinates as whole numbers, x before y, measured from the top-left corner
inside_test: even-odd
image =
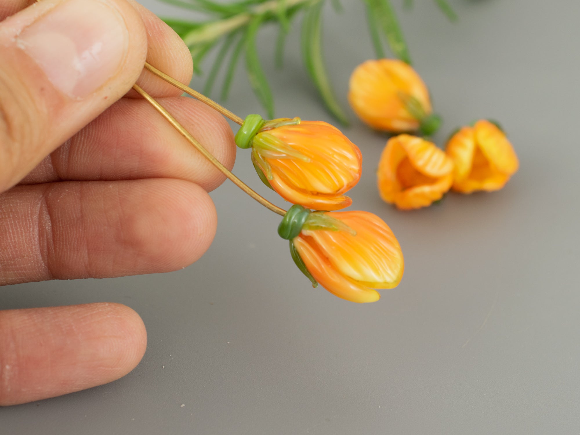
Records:
[[[191,95],[195,99],[198,99],[202,103],[207,104],[209,107],[214,108],[219,113],[224,115],[226,118],[229,118],[232,121],[234,121],[236,124],[240,124],[240,125],[244,124],[244,119],[238,117],[238,115],[231,113],[229,110],[227,110],[227,108],[220,106],[220,104],[209,99],[205,95],[197,92],[197,90],[191,89],[189,86],[186,86],[183,83],[174,79],[173,77],[163,73],[162,71],[155,68],[153,65],[146,62],[145,68],[146,68],[146,70],[150,71],[151,73],[157,75],[157,77],[160,77],[160,78],[164,79],[166,82],[168,82],[169,84],[175,86],[177,89],[183,90],[183,92]],[[262,204],[267,209],[273,211],[274,213],[278,213],[278,215],[280,215],[280,216],[284,216],[286,214],[286,211],[283,208],[280,208],[280,207],[272,204],[270,201],[266,200],[266,198],[260,196],[258,193],[256,193],[252,189],[250,189],[250,187],[247,186],[247,184],[245,184],[244,182],[242,182],[242,180],[240,180],[237,176],[235,176],[233,173],[231,173],[231,171],[229,169],[227,169],[226,166],[222,165],[222,163],[218,159],[213,157],[213,155],[208,150],[206,150],[205,147],[197,139],[195,139],[195,137],[193,137],[181,124],[179,124],[179,122],[177,122],[177,119],[173,118],[171,113],[169,113],[167,110],[165,110],[165,108],[163,106],[161,106],[161,104],[159,104],[157,102],[157,100],[155,100],[151,95],[149,95],[147,92],[145,92],[139,85],[137,85],[137,84],[133,85],[133,89],[135,89],[135,91],[137,93],[139,93],[139,95],[141,95],[144,99],[146,99],[147,102],[149,102],[151,104],[151,106],[153,106],[165,119],[167,119],[171,123],[171,125],[179,133],[181,133],[181,135],[183,137],[185,137],[187,142],[192,144],[198,151],[200,151],[200,153],[203,154],[206,159],[208,159],[210,162],[212,162],[212,164],[216,168],[218,168],[219,171],[222,172],[226,177],[228,177],[236,186],[240,187],[241,190],[243,190],[245,193],[250,195],[253,199],[258,201],[260,204]]]

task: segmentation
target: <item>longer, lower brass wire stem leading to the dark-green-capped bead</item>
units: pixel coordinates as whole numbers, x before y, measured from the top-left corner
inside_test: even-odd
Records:
[[[147,102],[151,104],[151,106],[153,106],[165,119],[169,121],[169,123],[179,133],[182,134],[183,137],[187,139],[187,142],[192,144],[195,147],[195,149],[200,151],[200,153],[203,154],[206,159],[212,162],[212,164],[216,168],[218,168],[226,177],[228,177],[231,180],[231,182],[233,182],[236,186],[240,187],[241,190],[250,195],[253,199],[258,201],[267,209],[273,211],[274,213],[277,213],[280,216],[284,216],[286,214],[286,211],[283,208],[280,208],[272,204],[270,201],[266,200],[266,198],[261,197],[258,193],[250,189],[249,186],[247,186],[244,182],[242,182],[242,180],[240,180],[237,176],[231,173],[229,169],[226,168],[226,166],[222,165],[218,159],[213,157],[213,155],[209,153],[209,151],[206,150],[205,147],[195,139],[195,137],[191,136],[190,133],[185,128],[183,128],[183,126],[179,124],[179,122],[177,122],[177,120],[173,118],[173,116],[167,110],[165,110],[165,108],[161,106],[161,104],[157,102],[157,100],[155,100],[151,95],[145,92],[139,85],[136,84],[133,85],[133,89],[135,89],[136,92],[139,93],[139,95],[141,95],[144,99],[146,99]]]

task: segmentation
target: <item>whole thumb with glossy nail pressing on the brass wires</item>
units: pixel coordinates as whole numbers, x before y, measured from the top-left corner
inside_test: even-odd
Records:
[[[125,0],[42,0],[0,22],[0,192],[131,89],[146,54]]]

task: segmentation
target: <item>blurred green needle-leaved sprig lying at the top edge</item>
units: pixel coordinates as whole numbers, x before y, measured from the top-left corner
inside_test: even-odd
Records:
[[[183,39],[191,52],[195,74],[202,74],[205,57],[218,50],[205,82],[204,93],[210,96],[220,71],[225,68],[221,98],[226,100],[240,57],[245,57],[245,67],[253,92],[269,118],[274,118],[274,96],[262,68],[256,46],[258,32],[267,24],[279,27],[274,60],[282,67],[284,47],[292,21],[302,14],[302,57],[311,81],[318,90],[329,113],[341,124],[347,117],[336,99],[327,68],[322,45],[322,9],[326,0],[234,0],[228,3],[212,0],[161,0],[184,9],[207,15],[205,21],[164,19]],[[412,8],[412,0],[403,0]],[[457,16],[445,0],[433,0],[449,20]],[[339,0],[329,0],[336,12],[342,12]],[[393,56],[411,63],[411,56],[397,15],[390,0],[360,0],[367,11],[369,34],[376,57],[385,57],[385,46]],[[386,44],[385,44],[386,43]],[[219,47],[219,49],[218,49]]]

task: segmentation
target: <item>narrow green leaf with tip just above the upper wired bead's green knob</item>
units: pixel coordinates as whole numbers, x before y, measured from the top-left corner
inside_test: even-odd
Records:
[[[266,109],[269,118],[274,118],[274,97],[270,90],[270,85],[260,64],[258,49],[256,49],[256,35],[262,23],[262,16],[255,16],[248,25],[248,32],[245,38],[246,49],[246,69],[250,85],[262,106]]]

